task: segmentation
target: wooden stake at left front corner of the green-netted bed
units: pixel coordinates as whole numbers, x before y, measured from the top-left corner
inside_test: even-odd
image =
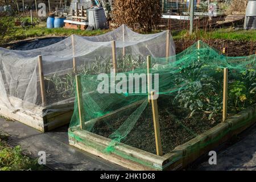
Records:
[[[82,119],[82,86],[81,86],[81,77],[76,75],[76,92],[77,92],[77,104],[79,109],[79,123],[80,129],[84,129],[84,121]]]

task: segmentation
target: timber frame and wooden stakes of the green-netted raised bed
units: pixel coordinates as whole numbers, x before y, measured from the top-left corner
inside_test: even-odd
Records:
[[[149,71],[150,57],[148,57],[147,61]],[[82,105],[82,103],[80,103],[80,101],[82,102],[82,94],[79,76],[76,76],[76,84],[80,124],[78,126],[69,128],[69,144],[133,170],[175,170],[184,168],[201,155],[213,150],[221,143],[233,137],[233,135],[241,133],[247,127],[253,125],[256,121],[256,104],[241,111],[241,113],[232,115],[229,119],[226,119],[228,99],[228,69],[224,68],[223,113],[222,122],[220,124],[212,127],[188,142],[175,147],[174,150],[162,156],[161,140],[158,139],[160,136],[158,107],[156,102],[153,100],[154,92],[151,92],[151,100],[148,97],[146,102],[152,104],[156,154],[158,155],[128,146],[127,144],[123,143],[114,143],[114,150],[108,153],[105,152],[105,149],[109,147],[110,144],[113,145],[113,141],[109,138],[84,130],[86,125],[90,126],[92,123],[104,121],[106,118],[112,117],[114,114],[119,112],[123,112],[134,107],[136,108],[139,104],[142,104],[143,101],[135,102],[131,105],[115,110],[112,113],[108,113],[100,118],[84,122],[82,121],[81,117],[82,110],[80,110],[80,105]]]

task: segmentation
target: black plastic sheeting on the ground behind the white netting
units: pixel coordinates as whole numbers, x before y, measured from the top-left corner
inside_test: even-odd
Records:
[[[46,46],[50,46],[66,37],[55,37],[55,38],[43,38],[43,39],[34,39],[34,40],[24,40],[22,42],[9,44],[9,48],[13,50],[26,51],[31,49],[42,48]]]

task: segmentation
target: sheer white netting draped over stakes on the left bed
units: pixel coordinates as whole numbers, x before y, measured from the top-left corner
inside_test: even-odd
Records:
[[[123,69],[125,64],[130,63],[131,69],[136,68],[148,55],[175,55],[174,41],[168,31],[142,35],[124,25],[104,35],[74,35],[51,46],[29,51],[0,48],[0,106],[42,115],[35,107],[42,106],[39,55],[42,55],[46,90],[44,106],[50,110],[51,106],[57,109],[58,104],[73,102],[75,74],[108,73],[113,67],[113,40],[117,67],[122,68],[122,72],[129,71]],[[74,58],[76,73],[73,72]]]

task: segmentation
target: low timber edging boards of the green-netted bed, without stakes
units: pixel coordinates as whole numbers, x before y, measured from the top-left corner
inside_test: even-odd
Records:
[[[108,114],[108,116],[111,114]],[[99,118],[100,119],[100,118]],[[101,118],[102,119],[102,118]],[[163,156],[158,156],[135,147],[118,143],[111,153],[104,152],[111,140],[100,135],[70,127],[69,144],[106,160],[133,170],[175,170],[186,167],[201,155],[213,150],[233,135],[241,133],[256,121],[256,105],[233,115],[188,142],[175,147]],[[85,123],[85,126],[90,122]]]

